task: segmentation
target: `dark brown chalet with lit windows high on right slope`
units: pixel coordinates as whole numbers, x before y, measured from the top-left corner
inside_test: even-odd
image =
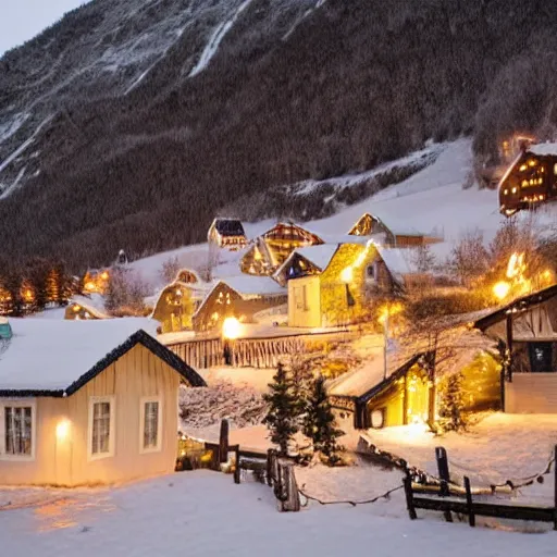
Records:
[[[498,184],[499,211],[517,211],[557,199],[557,144],[525,147]]]

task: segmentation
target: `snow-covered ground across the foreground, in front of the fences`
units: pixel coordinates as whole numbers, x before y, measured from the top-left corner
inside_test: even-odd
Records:
[[[555,555],[555,534],[532,536],[375,515],[377,507],[312,506],[278,513],[272,491],[230,475],[182,473],[0,517],[2,555],[18,557],[338,556],[358,552],[506,557]],[[381,504],[381,506],[392,503]],[[403,512],[404,509],[401,509]],[[404,516],[404,512],[403,512]]]

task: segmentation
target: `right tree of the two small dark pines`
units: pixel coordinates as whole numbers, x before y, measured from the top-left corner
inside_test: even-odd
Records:
[[[344,432],[336,429],[335,416],[326,394],[325,377],[322,375],[313,382],[308,398],[304,434],[312,441],[313,449],[321,451],[330,465],[338,462],[336,440]]]

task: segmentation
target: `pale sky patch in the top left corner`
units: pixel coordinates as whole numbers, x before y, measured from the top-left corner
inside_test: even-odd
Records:
[[[0,55],[87,0],[0,0]]]

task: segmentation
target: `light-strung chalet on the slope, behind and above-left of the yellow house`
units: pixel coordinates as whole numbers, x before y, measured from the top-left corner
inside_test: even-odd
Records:
[[[240,262],[243,273],[272,275],[297,248],[317,246],[323,240],[292,222],[280,222],[260,237]]]

